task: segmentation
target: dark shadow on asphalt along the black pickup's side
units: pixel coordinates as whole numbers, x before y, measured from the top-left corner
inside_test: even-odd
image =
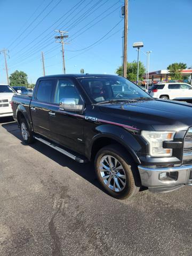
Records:
[[[12,135],[14,135],[17,139],[19,139],[21,144],[26,146],[26,143],[22,141],[20,130],[17,126],[17,124],[13,123],[6,123],[2,124],[2,127]],[[54,162],[58,163],[59,165],[63,167],[68,167],[71,171],[77,173],[82,178],[86,179],[90,183],[92,183],[94,186],[98,187],[102,191],[106,193],[106,191],[101,187],[99,184],[95,172],[94,172],[94,164],[93,163],[77,163],[73,159],[70,159],[69,157],[61,154],[57,150],[54,150],[50,148],[49,146],[46,146],[45,144],[41,143],[40,141],[35,141],[35,143],[28,145],[29,147],[37,150],[39,153],[45,155],[46,157],[49,157]],[[29,156],[30,157],[30,156]]]

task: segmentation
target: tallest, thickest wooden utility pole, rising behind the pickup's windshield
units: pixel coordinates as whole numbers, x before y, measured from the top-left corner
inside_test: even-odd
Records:
[[[127,31],[128,31],[128,0],[124,6],[124,44],[123,44],[123,76],[127,77]]]

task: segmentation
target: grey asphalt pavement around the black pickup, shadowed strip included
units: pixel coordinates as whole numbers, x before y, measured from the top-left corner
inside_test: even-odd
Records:
[[[10,121],[0,123],[1,256],[191,255],[192,187],[118,201],[91,164],[24,145]]]

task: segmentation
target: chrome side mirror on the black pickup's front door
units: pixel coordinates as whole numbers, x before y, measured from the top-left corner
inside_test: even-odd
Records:
[[[82,112],[83,104],[77,105],[74,98],[63,98],[59,102],[60,110]]]

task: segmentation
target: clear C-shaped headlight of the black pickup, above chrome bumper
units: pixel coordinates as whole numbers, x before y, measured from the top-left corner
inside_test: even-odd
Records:
[[[141,135],[149,142],[150,156],[172,156],[172,149],[163,148],[163,141],[173,140],[175,132],[142,131]]]

